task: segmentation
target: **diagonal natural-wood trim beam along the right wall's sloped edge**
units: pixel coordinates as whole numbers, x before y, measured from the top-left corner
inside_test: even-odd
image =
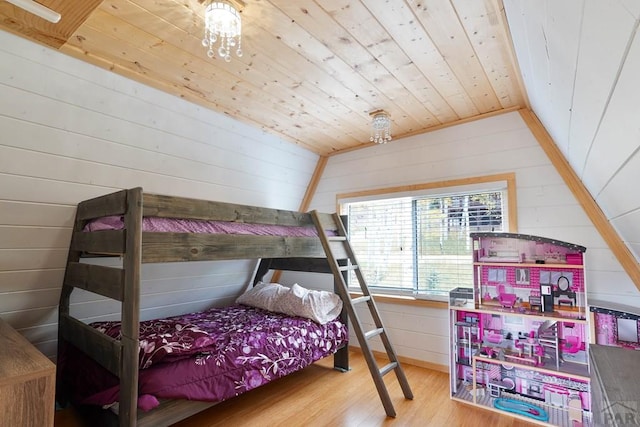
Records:
[[[609,248],[613,252],[614,256],[618,259],[618,262],[622,265],[622,268],[627,272],[636,288],[640,290],[640,265],[636,261],[635,257],[620,238],[620,235],[615,231],[605,214],[600,209],[600,206],[591,197],[591,194],[585,186],[582,184],[578,175],[574,172],[573,168],[565,159],[564,155],[553,141],[544,125],[538,117],[531,110],[520,110],[520,116],[531,130],[531,133],[538,140],[538,143],[542,147],[547,156],[551,160],[551,163],[556,168],[562,179],[567,184],[567,187],[571,190],[573,195],[578,200],[578,203],[582,206],[585,213],[593,222],[604,241],[609,245]]]

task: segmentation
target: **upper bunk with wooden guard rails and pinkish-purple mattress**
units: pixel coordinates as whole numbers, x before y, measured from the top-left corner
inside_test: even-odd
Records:
[[[326,235],[337,234],[334,215],[318,219]],[[138,187],[78,203],[71,250],[122,256],[141,242],[142,263],[326,259],[317,234],[308,213],[143,194]]]

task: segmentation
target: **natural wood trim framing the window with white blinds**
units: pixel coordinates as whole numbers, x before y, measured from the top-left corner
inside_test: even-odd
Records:
[[[505,232],[517,232],[516,184],[515,173],[479,176],[448,181],[390,187],[336,195],[337,212],[346,214],[346,205],[353,202],[395,199],[401,197],[446,197],[470,192],[501,191],[503,197],[502,223]],[[356,252],[356,257],[358,253]],[[354,286],[356,286],[355,284]],[[357,286],[354,291],[359,291]],[[411,296],[416,299],[445,301],[446,296],[426,292],[372,287],[372,292],[383,295]]]

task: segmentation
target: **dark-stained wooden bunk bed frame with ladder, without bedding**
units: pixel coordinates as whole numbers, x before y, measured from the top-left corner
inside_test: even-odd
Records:
[[[86,232],[87,224],[96,218],[118,217],[123,220],[121,229]],[[93,361],[99,363],[119,379],[119,411],[100,410],[105,425],[159,426],[169,425],[200,412],[215,403],[185,399],[166,400],[149,412],[138,411],[139,376],[139,327],[140,327],[140,270],[142,263],[184,262],[230,259],[260,259],[254,284],[269,269],[333,273],[336,293],[341,296],[346,310],[340,319],[346,324],[347,313],[359,326],[345,282],[344,270],[348,263],[348,244],[328,243],[326,236],[291,237],[283,235],[200,234],[190,232],[143,231],[143,218],[181,218],[187,220],[214,220],[240,224],[264,224],[284,227],[310,227],[314,230],[344,232],[337,215],[300,213],[268,208],[258,208],[221,202],[169,197],[143,193],[141,188],[123,190],[79,203],[67,269],[59,305],[59,354],[71,344]],[[340,240],[340,239],[338,239]],[[90,256],[117,256],[122,258],[122,268],[81,263]],[[331,254],[331,259],[328,258]],[[341,260],[341,261],[338,261]],[[74,288],[84,289],[121,302],[120,339],[111,338],[81,322],[70,313],[70,296]],[[368,293],[365,286],[365,293]],[[365,298],[366,299],[366,298]],[[375,310],[373,299],[370,308]],[[377,311],[374,313],[377,316]],[[363,335],[356,328],[358,338]],[[385,347],[387,345],[384,330]],[[361,340],[361,346],[363,341]],[[387,414],[395,416],[382,375],[395,370],[405,396],[411,398],[406,378],[391,350],[392,366],[374,374],[373,355],[367,350],[365,357],[371,360],[370,368]],[[388,348],[388,350],[389,350]],[[363,350],[364,351],[364,350]],[[389,354],[389,352],[388,352]],[[343,346],[334,355],[334,366],[348,370],[348,349]],[[66,389],[64,373],[58,376],[59,399],[64,401]],[[381,391],[381,387],[384,389]],[[383,396],[383,393],[385,396]],[[91,415],[92,418],[96,414]]]

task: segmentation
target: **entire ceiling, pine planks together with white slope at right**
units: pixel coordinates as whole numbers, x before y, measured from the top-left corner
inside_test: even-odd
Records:
[[[38,0],[50,24],[0,0],[0,28],[320,155],[369,145],[376,109],[399,138],[530,105],[640,288],[637,0],[245,0],[229,63],[202,1]]]

